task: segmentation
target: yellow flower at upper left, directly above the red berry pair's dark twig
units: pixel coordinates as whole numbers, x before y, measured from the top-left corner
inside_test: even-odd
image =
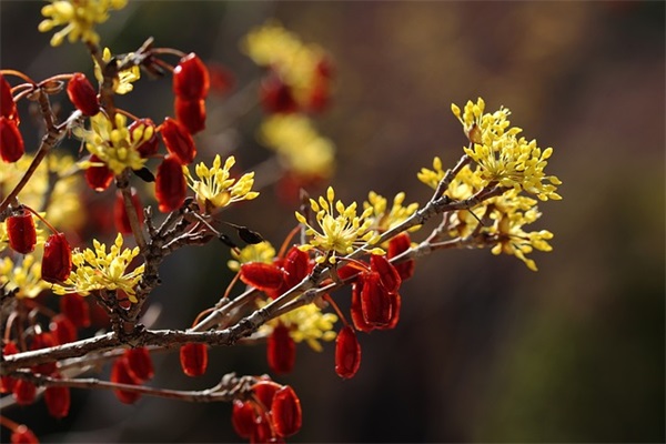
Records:
[[[143,131],[143,138],[134,139],[127,127],[127,118],[120,113],[115,114],[113,122],[100,112],[90,118],[92,129],[74,129],[74,135],[85,141],[85,149],[97,155],[109,167],[114,174],[121,174],[125,168],[141,170],[145,159],[139,153],[138,147],[152,137],[151,131]],[[138,129],[134,130],[137,133]],[[88,162],[81,162],[81,168],[91,167]]]

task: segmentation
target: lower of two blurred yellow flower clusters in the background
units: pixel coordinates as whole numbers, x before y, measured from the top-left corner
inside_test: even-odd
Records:
[[[273,114],[259,130],[260,141],[279,154],[283,167],[300,176],[326,179],[335,170],[335,145],[303,114]]]

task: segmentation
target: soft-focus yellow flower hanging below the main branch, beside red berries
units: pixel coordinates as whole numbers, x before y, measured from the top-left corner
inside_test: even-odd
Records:
[[[320,341],[333,341],[335,331],[333,324],[337,316],[333,313],[322,313],[315,304],[307,304],[262,325],[260,332],[270,335],[273,329],[282,323],[289,329],[294,342],[305,341],[315,352],[322,351]]]

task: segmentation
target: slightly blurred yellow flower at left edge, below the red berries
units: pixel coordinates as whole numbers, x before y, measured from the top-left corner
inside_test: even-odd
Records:
[[[17,263],[10,258],[0,260],[0,286],[18,289],[16,296],[21,299],[37,297],[49,284],[41,279],[41,261],[31,253]]]

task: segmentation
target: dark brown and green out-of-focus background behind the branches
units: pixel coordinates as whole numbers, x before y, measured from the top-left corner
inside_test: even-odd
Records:
[[[0,2],[1,67],[91,75],[81,44],[51,48],[37,31],[42,6]],[[450,107],[477,97],[553,147],[548,173],[564,182],[563,201],[539,205],[536,229],[555,239],[552,253],[533,255],[537,273],[485,250],[423,259],[403,284],[398,326],[361,335],[351,381],[335,375],[332,344],[321,354],[299,345],[296,370],[278,377],[304,410],[290,441],[664,442],[665,3],[135,1],[98,30],[113,52],[152,36],[233,72],[234,90],[209,99],[198,143],[209,157],[234,148],[252,168],[270,153],[255,138],[261,109],[239,105],[252,103],[261,75],[239,41],[268,18],[334,61],[333,102],[315,121],[336,145],[331,184],[343,201],[370,190],[427,200],[416,172],[434,155],[445,167],[460,158],[465,139]],[[159,122],[172,114],[170,87],[142,79],[121,105]],[[229,220],[276,245],[294,223],[270,185]],[[228,259],[220,245],[169,258],[154,326],[184,329],[214,303]],[[349,294],[336,297],[344,306]],[[212,351],[199,380],[181,374],[175,353],[155,366],[155,385],[192,390],[230,371],[269,371],[263,346]],[[7,414],[43,442],[195,443],[239,441],[230,412],[73,391],[64,420],[43,403]]]

